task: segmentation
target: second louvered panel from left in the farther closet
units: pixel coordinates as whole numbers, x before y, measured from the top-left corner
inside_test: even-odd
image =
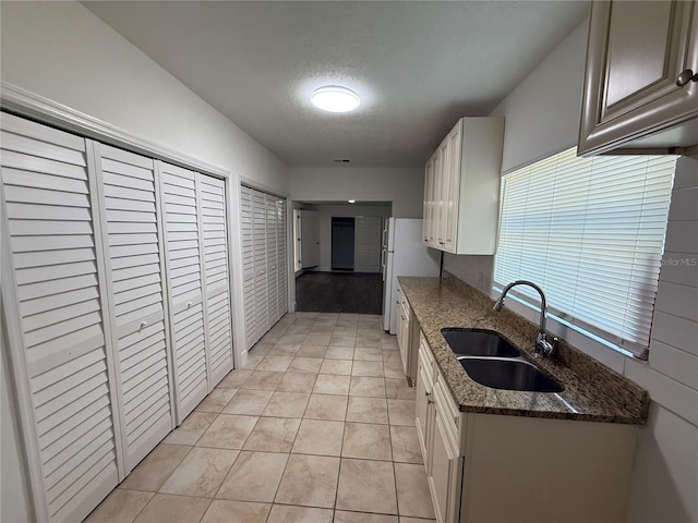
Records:
[[[266,198],[252,191],[253,253],[254,253],[254,326],[257,339],[268,330]]]

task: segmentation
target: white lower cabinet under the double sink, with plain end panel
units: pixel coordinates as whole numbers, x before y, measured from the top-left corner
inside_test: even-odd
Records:
[[[625,519],[636,426],[459,412],[423,335],[417,429],[438,522]]]

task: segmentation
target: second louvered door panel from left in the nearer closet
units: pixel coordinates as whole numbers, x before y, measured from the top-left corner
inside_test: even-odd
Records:
[[[155,162],[95,144],[127,474],[173,428]]]

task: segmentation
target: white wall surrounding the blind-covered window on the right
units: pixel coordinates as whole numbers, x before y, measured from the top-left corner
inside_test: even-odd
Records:
[[[586,24],[577,27],[492,112],[506,118],[504,172],[576,144]],[[633,523],[698,521],[696,202],[698,158],[682,158],[672,194],[647,364],[580,337],[562,335],[573,345],[645,387],[652,399],[648,424],[640,430],[628,496],[627,521]],[[493,262],[493,256],[446,255],[444,268],[490,294]],[[537,314],[516,305],[513,308],[529,319],[537,319]]]

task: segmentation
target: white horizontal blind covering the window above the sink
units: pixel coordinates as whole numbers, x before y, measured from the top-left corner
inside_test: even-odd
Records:
[[[495,285],[531,280],[551,315],[646,358],[675,162],[571,148],[505,175]]]

